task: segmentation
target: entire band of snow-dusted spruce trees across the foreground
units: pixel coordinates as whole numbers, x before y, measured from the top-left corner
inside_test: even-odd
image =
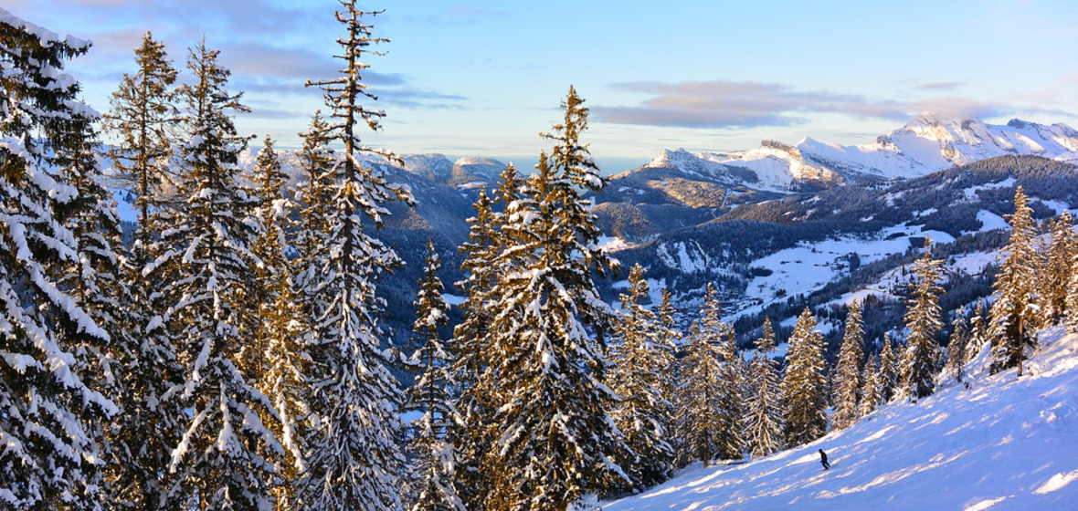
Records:
[[[301,133],[294,188],[268,137],[250,172],[238,166],[248,139],[233,117],[247,108],[219,52],[192,46],[193,82],[177,84],[144,36],[100,118],[136,198],[126,242],[98,115],[63,73],[88,44],[0,10],[0,507],[561,511],[923,398],[941,368],[966,378],[982,343],[994,371],[1021,375],[1038,328],[1078,325],[1070,218],[1038,247],[1021,187],[990,311],[956,315],[946,361],[929,240],[904,342],[867,354],[854,303],[833,370],[807,308],[785,356],[768,320],[749,359],[710,283],[687,332],[668,292],[645,306],[638,265],[616,310],[594,279],[620,265],[583,196],[606,180],[570,87],[535,172],[510,166],[479,194],[452,331],[428,245],[401,354],[376,295],[400,258],[372,227],[413,199],[364,164],[359,137],[385,115],[361,76],[386,40],[368,23],[378,13],[341,4],[343,71],[308,82],[328,114]],[[415,373],[407,389],[399,367]]]

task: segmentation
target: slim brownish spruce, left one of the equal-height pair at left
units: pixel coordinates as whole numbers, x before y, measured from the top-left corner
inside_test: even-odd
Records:
[[[160,209],[170,200],[164,184],[175,185],[169,165],[180,120],[171,90],[177,70],[150,32],[135,49],[135,60],[138,70],[124,74],[103,116],[106,132],[118,139],[109,156],[138,207],[134,242],[118,261],[127,288],[122,299],[126,324],[112,330],[113,344],[120,344],[113,346],[116,367],[124,370],[115,373],[122,413],[106,429],[108,506],[179,509],[185,497],[171,492],[168,467],[184,429],[183,404],[162,398],[182,383],[183,368],[174,345],[177,336],[163,321],[168,306],[155,302],[161,286],[148,284],[142,274],[157,256],[152,249],[162,246],[156,240],[166,224],[158,219],[167,213]]]

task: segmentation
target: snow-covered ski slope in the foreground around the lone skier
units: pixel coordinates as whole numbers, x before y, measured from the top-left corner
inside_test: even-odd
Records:
[[[1018,379],[946,383],[841,431],[744,465],[687,469],[604,511],[1078,509],[1078,336],[1041,335]],[[831,470],[819,465],[823,449]]]

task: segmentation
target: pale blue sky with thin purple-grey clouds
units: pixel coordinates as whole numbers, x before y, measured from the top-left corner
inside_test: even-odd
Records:
[[[152,30],[182,67],[203,34],[251,114],[244,131],[298,145],[321,105],[342,33],[334,0],[6,0],[94,42],[69,66],[87,102],[134,70]],[[750,148],[803,137],[868,143],[922,111],[1078,126],[1078,2],[1069,0],[434,1],[385,9],[368,83],[388,117],[364,141],[398,153],[482,155],[529,167],[569,85],[592,109],[585,141],[607,171],[663,148]]]

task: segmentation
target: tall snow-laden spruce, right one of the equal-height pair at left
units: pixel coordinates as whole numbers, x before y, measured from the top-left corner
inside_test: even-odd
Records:
[[[161,256],[147,269],[162,283],[166,321],[177,335],[185,381],[163,399],[179,399],[189,417],[172,451],[175,493],[205,509],[263,509],[271,505],[274,460],[282,454],[261,416],[276,411],[244,378],[239,337],[253,267],[247,222],[253,201],[237,187],[239,153],[247,139],[236,134],[234,112],[247,111],[225,88],[230,72],[205,41],[191,49],[188,68],[195,83],[180,87],[188,132],[180,143],[180,194],[185,202],[163,215]]]

